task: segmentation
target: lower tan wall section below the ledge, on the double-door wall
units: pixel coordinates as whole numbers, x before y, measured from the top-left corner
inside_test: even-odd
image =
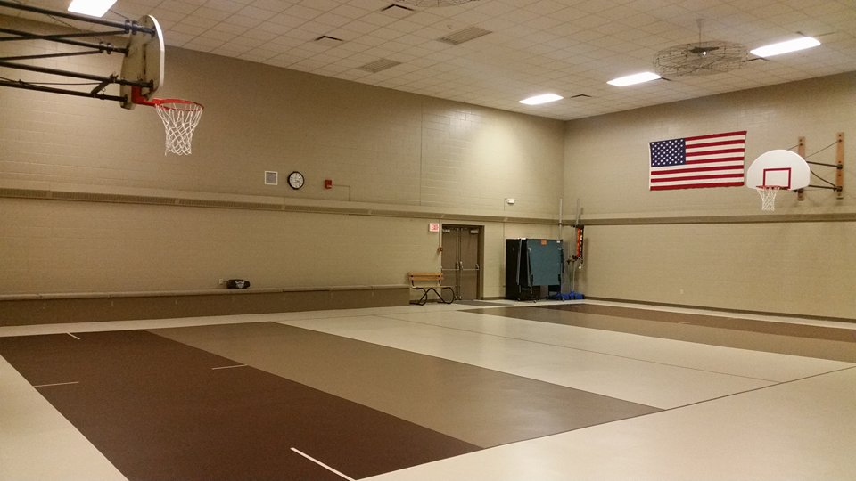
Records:
[[[440,234],[428,232],[429,222],[0,199],[0,292],[216,289],[229,278],[259,288],[403,284],[408,272],[440,270]],[[481,224],[484,296],[500,297],[504,235],[537,237],[551,228]]]

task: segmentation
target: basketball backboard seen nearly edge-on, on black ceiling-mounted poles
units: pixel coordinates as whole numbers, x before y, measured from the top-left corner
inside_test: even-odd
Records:
[[[145,15],[138,23],[142,27],[152,29],[154,34],[144,32],[131,34],[128,39],[128,54],[122,61],[122,78],[151,83],[151,87],[140,88],[140,94],[145,97],[145,100],[149,100],[163,83],[163,32],[158,20],[151,15]],[[122,102],[122,107],[125,109],[134,108],[133,88],[133,86],[122,85],[119,89],[126,99]]]

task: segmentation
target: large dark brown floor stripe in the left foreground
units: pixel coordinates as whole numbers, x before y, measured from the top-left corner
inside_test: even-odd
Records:
[[[131,480],[341,481],[292,448],[353,478],[479,449],[146,331],[77,336],[0,355]]]

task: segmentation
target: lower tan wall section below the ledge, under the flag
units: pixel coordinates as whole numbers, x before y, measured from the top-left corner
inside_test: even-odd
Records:
[[[856,319],[856,223],[592,225],[585,293]]]

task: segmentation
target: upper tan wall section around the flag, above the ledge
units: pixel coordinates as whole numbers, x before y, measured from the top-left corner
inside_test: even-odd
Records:
[[[585,216],[693,216],[757,214],[761,200],[745,187],[648,191],[648,143],[746,130],[746,162],[773,149],[794,147],[806,137],[807,154],[849,135],[845,159],[856,160],[856,73],[813,78],[721,94],[567,123],[565,135],[566,208],[580,199]],[[811,157],[835,161],[835,148]],[[811,167],[827,179],[835,169]],[[835,192],[780,192],[778,213],[856,211],[856,167],[844,169],[844,200]],[[811,183],[817,183],[814,180]],[[567,210],[570,212],[570,210]]]

